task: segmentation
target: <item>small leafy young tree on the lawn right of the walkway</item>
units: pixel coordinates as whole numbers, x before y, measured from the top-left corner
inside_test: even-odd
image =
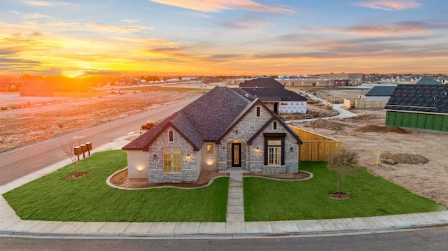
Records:
[[[345,175],[356,175],[358,168],[358,153],[342,148],[333,155],[328,162],[328,169],[337,171],[337,180],[339,182],[338,194],[342,194],[342,181]]]

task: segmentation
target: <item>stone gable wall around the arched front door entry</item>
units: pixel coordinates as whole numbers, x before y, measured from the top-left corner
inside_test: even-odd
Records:
[[[219,171],[225,171],[227,168],[232,167],[232,159],[231,159],[231,148],[229,143],[232,141],[241,141],[241,163],[245,163],[245,167],[248,168],[248,164],[251,164],[253,161],[252,156],[249,156],[247,152],[249,151],[250,146],[246,144],[249,138],[253,136],[253,134],[258,131],[270,118],[271,113],[264,108],[264,106],[260,106],[260,117],[256,117],[256,105],[251,108],[251,110],[243,117],[235,127],[232,128],[228,132],[227,135],[223,137],[221,140],[221,145],[219,146]],[[238,134],[236,131],[238,130]],[[246,152],[243,155],[243,152]],[[230,157],[229,157],[230,156]],[[241,165],[242,168],[242,165]]]

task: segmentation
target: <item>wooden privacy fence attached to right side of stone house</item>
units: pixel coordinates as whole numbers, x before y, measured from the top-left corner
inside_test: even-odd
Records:
[[[342,148],[342,142],[311,131],[290,126],[303,142],[299,146],[300,161],[328,161],[330,156]]]

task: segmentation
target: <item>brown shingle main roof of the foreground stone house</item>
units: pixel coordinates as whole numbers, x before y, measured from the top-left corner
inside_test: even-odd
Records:
[[[249,99],[232,89],[216,86],[122,149],[148,150],[152,141],[171,124],[198,150],[204,141],[216,141],[250,103]]]

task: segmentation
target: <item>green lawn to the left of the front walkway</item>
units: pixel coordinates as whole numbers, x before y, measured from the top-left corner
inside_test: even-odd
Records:
[[[106,178],[124,168],[121,150],[97,152],[79,162],[83,178],[65,180],[73,164],[3,194],[22,220],[82,222],[225,222],[228,178],[200,189],[123,190]]]

